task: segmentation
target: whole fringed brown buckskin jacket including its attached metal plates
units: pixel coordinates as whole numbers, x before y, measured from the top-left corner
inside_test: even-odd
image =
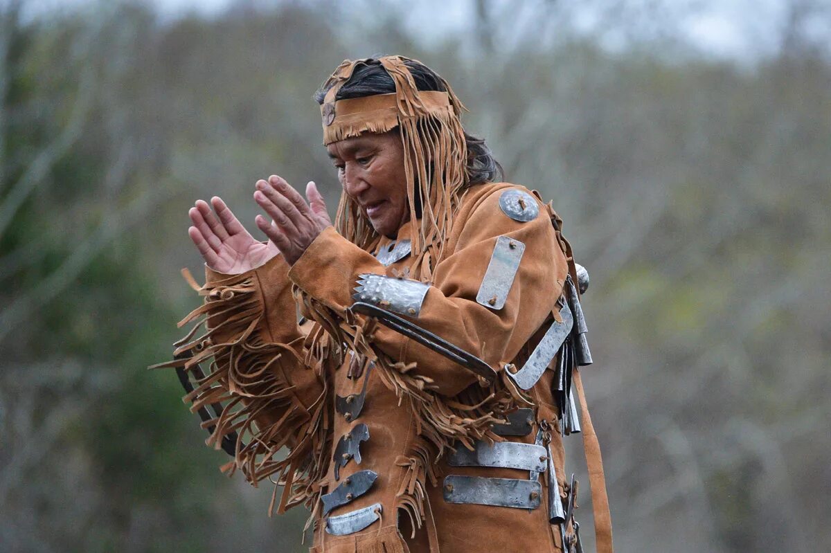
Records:
[[[562,551],[560,526],[549,521],[568,510],[554,397],[563,350],[552,359],[563,336],[547,357],[535,351],[572,318],[563,292],[577,275],[559,219],[527,188],[472,186],[429,278],[408,263],[410,224],[372,252],[330,227],[293,267],[278,256],[239,275],[207,268],[204,306],[185,321],[203,317],[209,331],[189,335],[179,352],[194,355],[189,366],[213,358],[212,370],[186,399],[194,409],[227,404],[209,422],[209,443],[248,437],[225,468],[251,482],[277,475],[285,487],[277,510],[312,511],[312,553]],[[364,335],[339,344],[313,340],[337,327],[323,329],[321,313],[347,313],[355,301],[484,360],[502,392],[385,325],[364,325]],[[298,304],[317,316],[298,322]],[[352,349],[357,338],[392,369]],[[333,350],[338,363],[322,363]],[[593,431],[584,400],[582,408],[585,439]],[[448,436],[459,439],[442,450]],[[602,479],[602,469],[589,469],[593,484]]]

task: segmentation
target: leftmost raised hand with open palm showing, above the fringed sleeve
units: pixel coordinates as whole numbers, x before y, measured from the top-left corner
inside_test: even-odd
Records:
[[[208,267],[215,271],[236,275],[259,267],[279,251],[272,242],[257,242],[243,227],[221,198],[214,196],[210,203],[198,200],[188,215],[193,227],[188,229]]]

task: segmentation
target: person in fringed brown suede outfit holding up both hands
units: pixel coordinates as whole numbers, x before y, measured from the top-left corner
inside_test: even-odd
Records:
[[[315,97],[335,223],[316,184],[303,198],[278,175],[253,193],[268,242],[221,198],[189,211],[204,305],[170,365],[198,369],[193,410],[224,404],[205,423],[214,447],[232,438],[224,470],[275,482],[280,513],[306,505],[312,553],[577,551],[561,434],[582,430],[612,551],[561,219],[499,182],[420,61],[344,61]]]

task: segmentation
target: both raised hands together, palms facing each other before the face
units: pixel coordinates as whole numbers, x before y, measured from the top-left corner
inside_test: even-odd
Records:
[[[256,187],[254,201],[271,220],[258,215],[254,223],[268,237],[267,243],[251,236],[217,196],[211,198],[210,204],[198,200],[188,212],[193,223],[188,235],[208,267],[215,271],[239,274],[263,265],[280,253],[293,265],[317,235],[332,226],[326,203],[314,183],[306,185],[308,202],[277,175],[258,180]]]

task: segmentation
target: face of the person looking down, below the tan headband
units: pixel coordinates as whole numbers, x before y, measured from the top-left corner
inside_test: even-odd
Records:
[[[395,237],[410,216],[404,146],[398,130],[363,133],[326,149],[343,191],[361,207],[376,232]]]

